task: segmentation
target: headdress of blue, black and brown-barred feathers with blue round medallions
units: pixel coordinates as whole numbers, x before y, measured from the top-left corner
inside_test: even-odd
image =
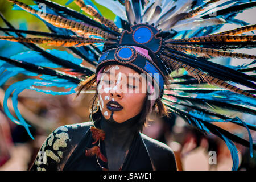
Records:
[[[0,83],[4,84],[18,73],[42,75],[40,79],[12,84],[6,90],[3,103],[7,116],[18,125],[23,125],[31,138],[30,126],[17,107],[20,92],[31,89],[53,95],[75,93],[78,84],[84,84],[86,78],[114,60],[111,63],[130,65],[141,72],[160,73],[156,81],[163,91],[164,104],[190,125],[224,140],[232,154],[232,169],[238,168],[238,154],[233,142],[250,147],[252,156],[256,146],[250,130],[255,131],[256,126],[238,117],[224,115],[218,109],[255,117],[256,78],[253,75],[255,67],[251,65],[255,64],[256,56],[233,52],[233,49],[254,48],[256,45],[256,36],[246,35],[255,30],[256,25],[235,18],[243,10],[255,7],[256,2],[96,0],[116,15],[113,22],[104,18],[90,0],[75,0],[86,15],[48,0],[34,0],[36,5],[30,6],[16,0],[8,1],[14,3],[15,10],[22,9],[38,17],[51,31],[18,30],[0,14],[7,26],[0,27],[6,34],[0,39],[19,42],[30,49],[9,57],[0,56]],[[40,9],[40,6],[43,8]],[[241,27],[217,32],[226,23],[236,23]],[[24,34],[33,36],[26,37]],[[67,47],[68,51],[46,50],[38,46],[45,43]],[[133,46],[147,49],[155,57],[154,61],[139,55]],[[251,62],[232,67],[213,62],[213,57],[236,57]],[[56,69],[60,67],[64,68],[63,72]],[[173,76],[172,73],[178,70],[178,75]],[[167,75],[172,78],[170,85],[164,86],[162,79]],[[209,88],[209,85],[214,87]],[[35,86],[71,89],[56,92]],[[11,115],[7,107],[11,93],[18,119]],[[221,129],[213,122],[231,122],[245,127],[249,141]]]

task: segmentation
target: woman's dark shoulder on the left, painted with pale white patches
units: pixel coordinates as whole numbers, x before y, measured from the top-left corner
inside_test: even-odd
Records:
[[[90,125],[91,122],[83,122],[60,126],[53,130],[40,148],[31,170],[63,169],[65,162],[89,130]]]

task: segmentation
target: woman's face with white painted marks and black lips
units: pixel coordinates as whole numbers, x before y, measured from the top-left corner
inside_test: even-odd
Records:
[[[100,110],[105,119],[122,123],[139,114],[146,100],[146,77],[122,65],[108,65],[98,84]]]

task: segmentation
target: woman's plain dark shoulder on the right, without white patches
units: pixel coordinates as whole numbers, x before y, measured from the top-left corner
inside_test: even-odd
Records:
[[[143,133],[141,133],[141,137],[156,170],[177,170],[174,151],[167,144],[152,139]]]

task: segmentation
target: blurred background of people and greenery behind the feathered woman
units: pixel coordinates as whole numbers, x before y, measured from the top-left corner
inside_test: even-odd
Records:
[[[68,0],[55,0],[55,2],[65,5]],[[23,0],[28,5],[33,5],[32,1]],[[94,2],[94,1],[93,1]],[[94,2],[95,3],[95,2]],[[95,3],[101,13],[109,19],[114,20],[115,15],[105,7]],[[73,10],[80,11],[75,3],[68,5]],[[14,27],[23,30],[49,31],[43,22],[39,21],[35,16],[25,11],[12,10],[11,3],[6,0],[0,0],[0,12],[9,20]],[[245,20],[247,23],[256,24],[255,9],[246,10],[243,14],[238,14],[237,19]],[[0,26],[6,27],[2,19]],[[231,28],[237,28],[236,24],[228,24],[221,28],[225,31]],[[3,35],[0,33],[0,35]],[[52,49],[51,46],[42,47]],[[58,48],[64,50],[65,48]],[[27,51],[19,43],[6,42],[0,40],[0,55],[9,57],[10,54]],[[243,51],[243,50],[239,50]],[[255,55],[255,49],[251,49],[246,53]],[[213,60],[214,61],[214,60]],[[218,59],[215,60],[223,64],[239,65],[247,63],[242,59]],[[1,75],[0,75],[1,77]],[[24,80],[29,76],[17,75],[11,77],[5,85],[0,87],[0,170],[27,170],[35,160],[39,148],[44,140],[57,127],[72,123],[80,123],[89,121],[89,107],[91,104],[92,94],[80,94],[73,101],[75,94],[68,96],[52,96],[32,90],[24,90],[18,97],[18,108],[26,122],[31,125],[31,133],[34,136],[32,140],[26,130],[19,125],[11,122],[3,112],[3,98],[5,90],[14,82]],[[9,104],[11,105],[11,104]],[[13,111],[13,108],[10,107]],[[230,113],[224,113],[229,114]],[[251,115],[239,115],[246,122],[256,124],[256,118]],[[229,123],[219,124],[224,129],[247,138],[246,130],[242,130],[239,126]],[[143,129],[143,133],[168,144],[174,150],[177,167],[179,170],[230,170],[232,169],[232,158],[226,144],[214,135],[204,135],[198,130],[188,126],[183,119],[176,117],[170,113],[170,118],[159,118],[151,115],[150,121]],[[255,139],[255,132],[251,133]],[[256,168],[255,151],[254,157],[251,158],[249,148],[236,144],[239,157],[239,170],[253,170]],[[210,164],[209,160],[212,156],[210,151],[216,152],[216,163]]]

